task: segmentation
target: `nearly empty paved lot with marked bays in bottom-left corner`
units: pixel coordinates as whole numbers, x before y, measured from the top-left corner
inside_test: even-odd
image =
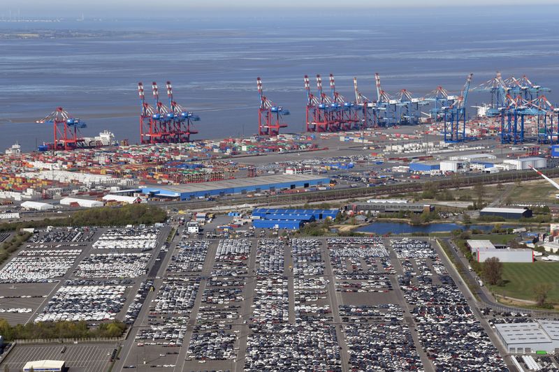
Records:
[[[66,351],[61,352],[66,346]],[[10,371],[20,371],[30,360],[64,360],[66,368],[72,372],[101,372],[109,365],[110,352],[115,345],[99,343],[89,345],[57,344],[57,345],[17,345],[1,364],[8,366]]]

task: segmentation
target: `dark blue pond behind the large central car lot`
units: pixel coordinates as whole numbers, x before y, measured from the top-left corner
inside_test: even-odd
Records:
[[[503,225],[502,228],[514,228],[511,225]],[[374,232],[378,235],[391,234],[413,234],[415,232],[447,232],[456,229],[461,230],[482,230],[489,232],[493,230],[493,225],[458,225],[456,223],[430,223],[429,225],[412,226],[408,223],[398,222],[375,222],[370,225],[358,228],[356,232]]]

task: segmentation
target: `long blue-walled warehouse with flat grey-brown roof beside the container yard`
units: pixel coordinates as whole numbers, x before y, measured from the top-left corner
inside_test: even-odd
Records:
[[[330,179],[306,174],[282,174],[278,176],[254,177],[245,179],[228,179],[225,181],[203,182],[199,184],[182,184],[174,186],[153,186],[142,188],[142,192],[154,197],[178,198],[191,200],[263,191],[280,191],[294,188],[307,188],[329,184]]]

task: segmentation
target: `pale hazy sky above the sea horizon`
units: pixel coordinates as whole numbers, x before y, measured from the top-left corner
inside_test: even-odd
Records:
[[[238,10],[242,13],[259,13],[261,11],[278,10],[349,10],[349,9],[377,9],[377,8],[437,8],[453,6],[530,6],[558,4],[559,0],[351,0],[349,3],[339,0],[19,0],[0,1],[0,13],[8,15],[11,11],[15,16],[20,12],[22,17],[66,17],[74,16],[76,13],[87,13],[92,17],[122,17],[130,15],[133,17],[157,17],[168,12],[188,14],[189,11],[200,10]],[[170,13],[173,14],[173,13]]]

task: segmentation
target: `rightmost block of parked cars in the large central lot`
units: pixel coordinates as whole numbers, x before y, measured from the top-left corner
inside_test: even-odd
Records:
[[[435,248],[428,241],[411,239],[393,240],[391,245],[408,274],[409,281],[400,288],[412,306],[421,347],[435,369],[508,371]]]

